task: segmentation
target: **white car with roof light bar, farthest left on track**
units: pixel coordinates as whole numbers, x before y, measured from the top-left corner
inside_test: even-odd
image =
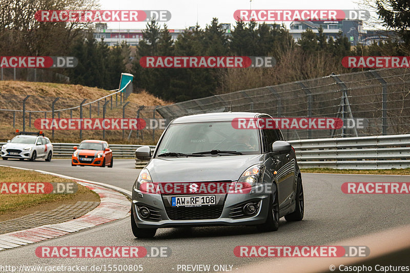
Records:
[[[35,161],[36,158],[44,158],[46,161],[51,161],[52,156],[53,145],[42,132],[21,132],[2,146],[3,160],[18,158]]]

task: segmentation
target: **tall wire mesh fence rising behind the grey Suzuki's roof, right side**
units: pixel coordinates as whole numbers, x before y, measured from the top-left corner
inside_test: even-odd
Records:
[[[161,106],[176,117],[212,112],[260,112],[273,118],[331,117],[343,120],[336,130],[282,129],[286,139],[408,134],[410,70],[379,69],[241,90]],[[232,103],[232,107],[231,107]]]

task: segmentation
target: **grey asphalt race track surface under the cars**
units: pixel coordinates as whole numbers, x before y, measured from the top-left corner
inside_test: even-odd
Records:
[[[114,159],[114,167],[72,167],[68,159],[44,161],[0,160],[0,164],[43,170],[115,185],[131,191],[140,170],[131,159]],[[237,258],[237,245],[331,245],[332,242],[410,224],[410,196],[406,194],[347,195],[343,182],[409,182],[409,176],[302,174],[305,216],[301,222],[281,219],[277,232],[257,233],[254,227],[193,227],[158,229],[153,239],[135,239],[130,218],[100,225],[71,235],[0,251],[2,265],[130,265],[142,272],[178,272],[178,264],[242,265],[263,258]],[[168,246],[168,258],[102,259],[37,258],[38,246]],[[275,258],[273,258],[275,259]],[[276,258],[280,259],[280,258]],[[326,259],[326,258],[323,258]],[[229,269],[229,266],[228,266]],[[272,271],[280,268],[272,268]],[[181,271],[181,270],[179,270]],[[88,271],[89,272],[89,271]],[[107,271],[108,272],[108,271]]]

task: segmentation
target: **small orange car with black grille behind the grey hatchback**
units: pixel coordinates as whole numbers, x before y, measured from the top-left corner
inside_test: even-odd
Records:
[[[104,140],[83,140],[74,146],[74,154],[71,158],[72,166],[100,166],[108,165],[112,168],[112,151]]]

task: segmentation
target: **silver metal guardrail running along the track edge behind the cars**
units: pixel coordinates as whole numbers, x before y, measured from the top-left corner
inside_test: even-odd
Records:
[[[410,134],[291,140],[301,168],[404,169],[410,167]],[[0,143],[0,145],[5,143]],[[68,158],[77,143],[53,143],[54,156]],[[116,158],[134,158],[142,145],[111,144]],[[150,146],[151,151],[155,146]],[[140,169],[147,161],[136,159]]]

